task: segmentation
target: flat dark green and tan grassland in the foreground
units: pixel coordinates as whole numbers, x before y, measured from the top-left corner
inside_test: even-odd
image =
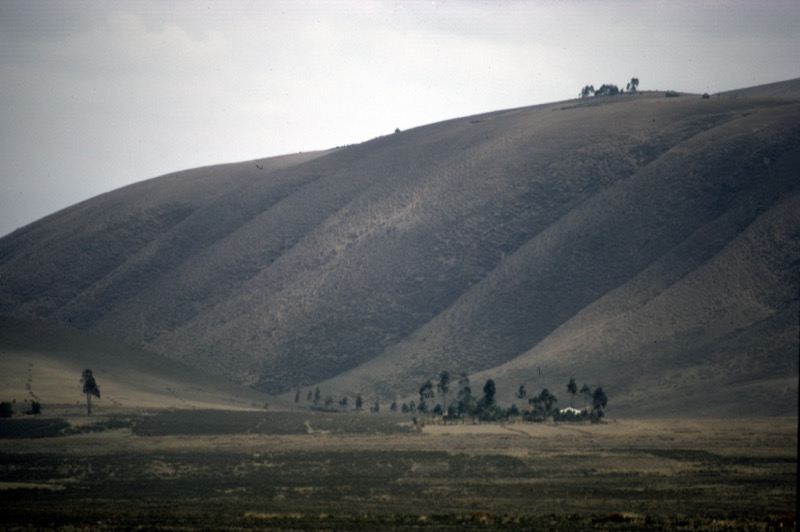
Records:
[[[796,527],[797,419],[50,415],[0,420],[4,529]]]

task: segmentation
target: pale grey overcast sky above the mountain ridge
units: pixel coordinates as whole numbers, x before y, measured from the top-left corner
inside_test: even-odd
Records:
[[[208,164],[800,77],[800,2],[0,0],[0,235]]]

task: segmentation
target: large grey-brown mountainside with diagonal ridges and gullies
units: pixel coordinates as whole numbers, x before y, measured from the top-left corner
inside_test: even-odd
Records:
[[[0,313],[275,394],[796,415],[798,168],[800,80],[459,118],[60,211],[0,239]]]

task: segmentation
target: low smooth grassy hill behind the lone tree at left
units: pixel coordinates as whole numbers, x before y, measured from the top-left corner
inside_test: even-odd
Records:
[[[62,325],[0,317],[0,400],[31,401],[66,413],[86,412],[80,377],[93,371],[100,388],[95,413],[132,408],[264,410],[279,401],[224,378],[103,336]],[[64,409],[67,409],[66,411]]]

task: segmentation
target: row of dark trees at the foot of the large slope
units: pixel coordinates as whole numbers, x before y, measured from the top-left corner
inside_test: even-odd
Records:
[[[402,405],[393,400],[389,410],[391,412],[419,413],[428,416],[440,416],[445,421],[504,421],[509,418],[522,418],[525,421],[543,422],[548,419],[555,421],[600,421],[605,415],[608,397],[602,386],[590,388],[588,384],[578,388],[574,378],[570,378],[566,391],[570,395],[569,408],[556,407],[558,398],[547,388],[539,393],[529,394],[524,384],[520,384],[515,397],[522,402],[522,408],[516,403],[504,407],[497,402],[497,386],[493,379],[488,379],[482,388],[482,395],[472,391],[469,377],[466,373],[454,380],[448,371],[442,371],[438,380],[428,379],[419,387],[419,401],[411,400]],[[437,395],[438,394],[438,395]],[[583,407],[576,408],[576,398],[582,399]],[[436,401],[436,398],[439,401]],[[295,403],[301,399],[300,389],[295,394]],[[333,396],[327,395],[324,400],[319,388],[309,390],[306,400],[312,408],[321,410],[347,411],[350,409],[350,399],[347,396],[336,401]],[[353,401],[356,411],[365,408],[363,396],[359,393]],[[371,412],[380,412],[379,400],[369,406]]]

